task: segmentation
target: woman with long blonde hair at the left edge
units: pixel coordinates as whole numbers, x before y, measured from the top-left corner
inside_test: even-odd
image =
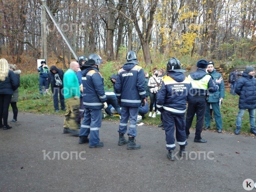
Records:
[[[19,82],[13,71],[9,70],[6,59],[0,59],[0,128],[10,129],[7,124],[8,110],[13,95],[13,90],[17,89]]]

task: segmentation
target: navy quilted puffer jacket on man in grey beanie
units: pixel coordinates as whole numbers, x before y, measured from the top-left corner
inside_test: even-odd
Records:
[[[247,73],[242,73],[238,79],[235,93],[239,95],[239,109],[256,108],[256,79]]]

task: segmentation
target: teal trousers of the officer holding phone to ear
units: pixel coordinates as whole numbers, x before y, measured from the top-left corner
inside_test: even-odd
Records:
[[[210,127],[211,124],[211,116],[210,116],[210,105],[213,108],[213,114],[216,122],[216,128],[222,129],[222,118],[221,118],[221,111],[219,103],[208,103],[206,104],[205,110],[205,126]]]

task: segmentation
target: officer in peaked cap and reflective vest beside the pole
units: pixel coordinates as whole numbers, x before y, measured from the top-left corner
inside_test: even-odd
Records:
[[[45,61],[41,61],[41,66],[38,67],[37,71],[39,72],[39,93],[43,95],[43,93],[46,93],[45,89],[49,72],[48,65],[46,65]]]

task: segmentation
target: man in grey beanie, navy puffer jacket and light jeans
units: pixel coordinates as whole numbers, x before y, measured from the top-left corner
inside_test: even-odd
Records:
[[[246,109],[249,111],[251,132],[256,135],[255,129],[255,109],[256,109],[256,79],[254,78],[255,69],[247,67],[243,71],[242,77],[238,79],[235,93],[239,95],[239,112],[236,118],[235,134],[241,130],[242,117]]]

